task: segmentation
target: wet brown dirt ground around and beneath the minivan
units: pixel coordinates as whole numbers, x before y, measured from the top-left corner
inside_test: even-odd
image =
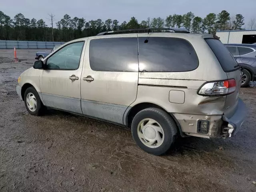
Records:
[[[0,50],[0,192],[256,192],[256,84],[234,138],[179,139],[164,156],[142,151],[130,130],[47,110],[31,116],[15,88],[35,52]]]

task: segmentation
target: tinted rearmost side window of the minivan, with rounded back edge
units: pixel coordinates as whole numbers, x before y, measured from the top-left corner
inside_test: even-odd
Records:
[[[139,70],[144,72],[182,72],[198,67],[192,45],[181,38],[139,38]]]

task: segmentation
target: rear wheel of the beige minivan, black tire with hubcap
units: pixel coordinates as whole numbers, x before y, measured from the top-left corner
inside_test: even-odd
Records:
[[[161,109],[146,108],[138,112],[132,120],[134,141],[150,154],[166,153],[174,143],[176,135],[176,123],[168,113]]]

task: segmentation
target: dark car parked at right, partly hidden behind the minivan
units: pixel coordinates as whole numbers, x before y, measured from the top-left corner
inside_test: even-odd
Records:
[[[225,44],[236,61],[242,66],[242,84],[246,87],[250,81],[256,81],[256,44]]]

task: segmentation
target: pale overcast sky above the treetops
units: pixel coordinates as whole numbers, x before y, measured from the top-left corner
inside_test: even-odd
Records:
[[[256,0],[0,0],[0,10],[13,18],[22,13],[26,18],[42,18],[46,24],[48,13],[55,14],[56,22],[69,14],[71,18],[84,17],[86,21],[117,19],[128,22],[132,16],[141,20],[147,17],[166,18],[170,14],[193,12],[204,18],[209,13],[227,10],[230,16],[242,14],[246,28],[251,18],[256,18]]]

